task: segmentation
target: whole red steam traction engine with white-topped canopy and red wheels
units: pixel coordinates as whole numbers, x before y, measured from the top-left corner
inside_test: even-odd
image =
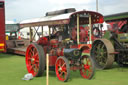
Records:
[[[45,56],[48,53],[49,68],[55,70],[60,81],[68,80],[70,70],[80,70],[83,78],[91,79],[94,75],[94,64],[89,54],[93,40],[91,27],[93,24],[102,23],[103,16],[91,11],[65,10],[66,14],[60,14],[57,11],[55,14],[54,12],[47,13],[44,21],[42,19],[36,23],[22,22],[22,27],[34,26],[38,23],[49,27],[48,36],[42,36],[37,42],[28,46],[26,51],[27,70],[35,77],[41,76],[45,71]],[[46,20],[49,15],[51,19]],[[61,19],[56,19],[58,17]]]

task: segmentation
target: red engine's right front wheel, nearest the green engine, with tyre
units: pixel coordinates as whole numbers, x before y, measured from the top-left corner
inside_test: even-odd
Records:
[[[80,74],[85,79],[91,79],[95,72],[95,67],[92,59],[89,56],[82,56],[80,64]]]

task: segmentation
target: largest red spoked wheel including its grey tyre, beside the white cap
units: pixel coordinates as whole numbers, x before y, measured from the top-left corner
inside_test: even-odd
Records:
[[[45,70],[45,55],[43,48],[32,43],[26,50],[26,67],[34,77],[41,76]]]

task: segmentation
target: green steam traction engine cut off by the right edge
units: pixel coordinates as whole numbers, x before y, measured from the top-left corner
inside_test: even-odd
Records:
[[[92,44],[91,57],[99,69],[111,68],[115,61],[128,66],[128,13],[105,16],[108,30]]]

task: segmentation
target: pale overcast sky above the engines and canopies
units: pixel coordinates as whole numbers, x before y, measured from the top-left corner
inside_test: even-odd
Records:
[[[99,12],[103,15],[128,12],[128,0],[99,0]],[[6,20],[17,22],[42,17],[48,11],[63,8],[96,10],[96,0],[6,0]]]

